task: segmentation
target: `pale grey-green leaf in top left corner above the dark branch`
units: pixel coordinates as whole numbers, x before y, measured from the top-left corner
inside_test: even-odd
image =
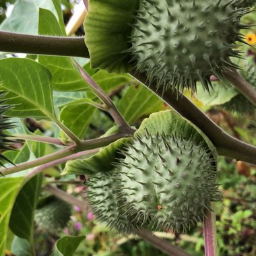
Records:
[[[54,5],[50,0],[18,0],[15,2],[11,15],[1,24],[0,30],[38,34],[38,9],[49,9],[56,17],[59,17],[55,9],[56,3]]]

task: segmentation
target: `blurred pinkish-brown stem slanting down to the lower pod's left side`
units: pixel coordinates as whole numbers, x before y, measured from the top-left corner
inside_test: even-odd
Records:
[[[73,195],[69,195],[65,191],[58,189],[57,187],[53,187],[51,185],[46,185],[44,187],[44,189],[46,191],[49,191],[51,194],[55,195],[55,197],[58,197],[58,198],[62,199],[63,201],[70,203],[71,205],[76,205],[76,206],[80,207],[82,210],[88,209],[88,205],[87,205],[86,201],[77,199],[76,197],[73,197]]]

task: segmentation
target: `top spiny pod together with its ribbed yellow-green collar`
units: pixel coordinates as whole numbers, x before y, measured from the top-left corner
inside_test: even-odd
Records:
[[[239,30],[246,26],[240,20],[249,12],[249,8],[238,8],[239,3],[241,0],[137,0],[127,7],[127,1],[90,1],[84,26],[92,66],[124,71],[125,60],[130,58],[149,82],[165,89],[194,91],[197,81],[208,89],[210,75],[223,78],[224,69],[237,67],[230,57],[239,57],[235,42],[243,41]],[[105,15],[100,16],[99,7]],[[122,10],[126,12],[116,17]]]

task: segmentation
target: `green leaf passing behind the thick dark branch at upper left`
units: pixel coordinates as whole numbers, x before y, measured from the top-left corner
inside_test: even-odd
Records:
[[[39,34],[64,36],[55,15],[46,9],[39,11]],[[38,61],[47,67],[53,75],[53,90],[77,91],[88,89],[88,84],[80,75],[70,57],[40,55]]]

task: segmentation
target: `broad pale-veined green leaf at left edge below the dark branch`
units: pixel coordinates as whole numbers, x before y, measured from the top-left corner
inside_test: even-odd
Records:
[[[0,81],[0,88],[8,92],[7,104],[15,104],[8,115],[55,118],[51,73],[43,65],[30,59],[1,59]]]

